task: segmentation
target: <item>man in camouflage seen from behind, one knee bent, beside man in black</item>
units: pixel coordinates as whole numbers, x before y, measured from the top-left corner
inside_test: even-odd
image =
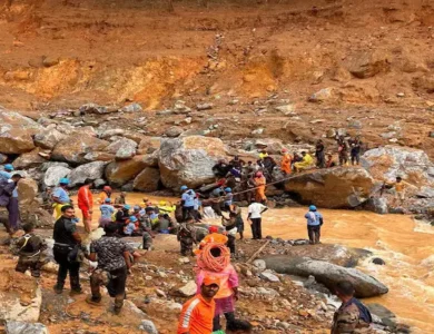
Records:
[[[119,314],[126,297],[128,271],[134,252],[126,242],[116,236],[116,224],[108,224],[100,239],[90,243],[90,261],[98,261],[97,269],[90,276],[91,296],[86,299],[98,305],[101,302],[100,286],[105,285],[110,297],[115,298],[115,314]]]

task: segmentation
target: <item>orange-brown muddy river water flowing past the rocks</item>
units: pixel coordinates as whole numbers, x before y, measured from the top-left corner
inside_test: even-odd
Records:
[[[140,204],[144,197],[152,203],[170,200],[129,194],[127,202],[131,205]],[[98,212],[96,206],[95,213]],[[305,212],[304,208],[268,210],[264,214],[264,235],[306,237]],[[388,307],[403,322],[414,326],[415,333],[434,333],[434,227],[417,224],[410,216],[320,212],[325,218],[322,230],[324,243],[366,248],[386,262],[385,266],[376,266],[368,261],[361,264],[362,271],[389,287],[385,296],[365,302],[376,302]],[[96,226],[97,217],[93,220]],[[248,228],[246,230],[248,235]]]

